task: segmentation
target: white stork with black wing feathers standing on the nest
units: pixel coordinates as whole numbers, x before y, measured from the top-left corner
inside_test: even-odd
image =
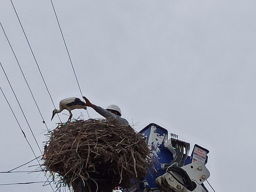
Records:
[[[85,103],[77,97],[69,97],[67,99],[63,99],[59,102],[59,110],[54,109],[52,111],[52,119],[53,119],[53,117],[56,113],[60,113],[64,109],[67,109],[68,112],[70,112],[70,117],[68,118],[68,121],[71,121],[71,118],[73,116],[73,114],[71,113],[71,110],[73,110],[73,109],[87,109],[87,107],[85,106]],[[52,121],[52,119],[51,119],[51,121]]]

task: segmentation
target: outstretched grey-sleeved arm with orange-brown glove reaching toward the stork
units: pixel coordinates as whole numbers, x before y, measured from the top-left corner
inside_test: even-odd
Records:
[[[123,124],[125,124],[125,125],[129,125],[129,122],[128,122],[126,119],[124,119],[124,118],[122,118],[122,117],[120,117],[120,116],[118,116],[118,115],[115,115],[115,114],[111,113],[110,111],[108,111],[108,110],[106,110],[106,109],[104,109],[104,108],[102,108],[102,107],[100,107],[100,106],[97,106],[97,105],[92,104],[92,103],[91,103],[86,97],[84,97],[84,96],[83,96],[83,98],[84,98],[84,100],[85,100],[85,102],[86,102],[86,106],[93,108],[96,112],[98,112],[98,114],[102,115],[103,117],[105,117],[105,118],[115,118],[115,119],[117,119],[118,121],[120,121],[121,123],[123,123]]]

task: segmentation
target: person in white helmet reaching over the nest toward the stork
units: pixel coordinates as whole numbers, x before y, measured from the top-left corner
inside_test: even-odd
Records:
[[[128,121],[121,117],[121,109],[117,105],[110,105],[106,109],[92,104],[86,97],[83,96],[86,106],[93,108],[98,114],[105,118],[115,118],[125,125],[129,125]]]

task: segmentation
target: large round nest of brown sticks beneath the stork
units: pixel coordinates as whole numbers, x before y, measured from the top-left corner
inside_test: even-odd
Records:
[[[44,165],[77,191],[83,182],[91,191],[130,188],[148,173],[152,155],[145,138],[117,120],[76,121],[50,134]],[[80,184],[79,184],[80,183]],[[97,183],[97,185],[95,184]]]

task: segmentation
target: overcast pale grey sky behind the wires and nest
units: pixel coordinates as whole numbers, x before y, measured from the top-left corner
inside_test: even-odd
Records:
[[[84,96],[102,107],[120,106],[130,124],[140,122],[138,131],[157,123],[191,148],[197,143],[209,149],[209,182],[216,192],[256,190],[256,1],[53,3]],[[55,105],[81,98],[50,0],[13,4]],[[55,128],[58,118],[50,121],[53,105],[9,0],[1,0],[0,22],[47,126]],[[0,62],[42,149],[46,127],[2,30]],[[2,70],[0,86],[40,155]],[[34,155],[1,94],[0,103],[0,171],[8,171]],[[74,117],[80,112],[88,118],[82,109]],[[100,117],[92,109],[89,114]],[[37,173],[0,174],[0,184],[44,180]],[[0,186],[1,192],[17,190],[52,191],[41,183]]]

